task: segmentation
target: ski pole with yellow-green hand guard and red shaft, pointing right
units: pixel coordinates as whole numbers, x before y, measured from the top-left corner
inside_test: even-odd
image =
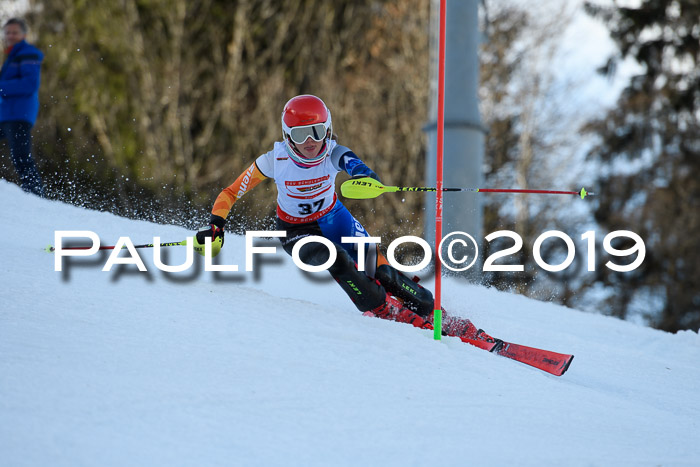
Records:
[[[382,193],[394,193],[397,191],[437,191],[434,187],[417,186],[387,186],[373,178],[354,178],[340,185],[340,192],[346,198],[369,199],[376,198]],[[576,195],[581,199],[595,193],[581,188],[580,191],[555,191],[555,190],[520,190],[509,188],[443,188],[442,191],[469,191],[473,193],[537,193],[545,195]]]

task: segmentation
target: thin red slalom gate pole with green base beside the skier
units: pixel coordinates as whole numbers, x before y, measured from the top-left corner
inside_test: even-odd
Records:
[[[439,259],[442,240],[442,160],[445,142],[445,10],[447,0],[440,0],[440,28],[438,41],[438,121],[437,121],[437,181],[435,198],[435,310],[433,311],[433,339],[442,338],[442,265]]]

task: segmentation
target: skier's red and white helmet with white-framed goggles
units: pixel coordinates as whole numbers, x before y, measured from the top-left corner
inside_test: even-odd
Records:
[[[331,111],[321,99],[310,94],[293,97],[282,110],[282,134],[287,154],[302,167],[319,165],[328,156],[333,124]],[[323,141],[321,151],[312,158],[302,155],[294,144],[303,144],[307,138]]]

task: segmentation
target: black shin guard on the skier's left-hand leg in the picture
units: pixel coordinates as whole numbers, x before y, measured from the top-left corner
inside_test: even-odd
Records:
[[[360,311],[377,308],[386,301],[384,287],[357,270],[355,261],[342,247],[335,245],[337,257],[335,263],[328,268],[333,279],[348,294]],[[326,246],[320,243],[307,243],[299,250],[299,259],[312,266],[320,266],[328,261],[330,253]]]

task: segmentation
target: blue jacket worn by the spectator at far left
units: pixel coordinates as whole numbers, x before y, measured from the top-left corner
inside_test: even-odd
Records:
[[[39,113],[39,75],[44,54],[26,41],[12,47],[0,70],[0,122],[32,125]]]

